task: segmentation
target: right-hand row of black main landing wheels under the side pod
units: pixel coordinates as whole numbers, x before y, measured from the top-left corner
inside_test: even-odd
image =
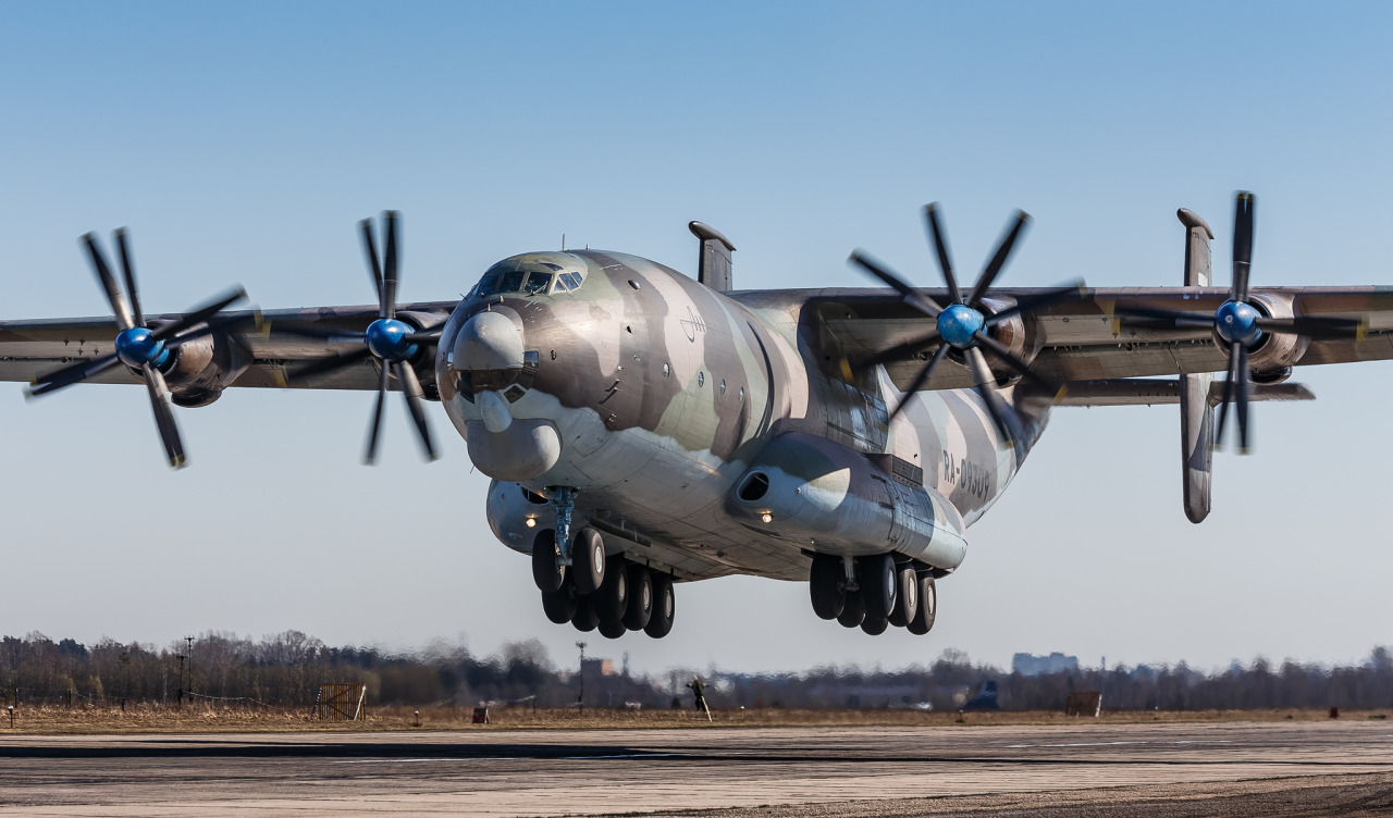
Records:
[[[896,562],[893,554],[857,556],[850,572],[844,558],[816,554],[808,588],[814,612],[822,619],[836,619],[843,627],[861,627],[871,636],[885,633],[892,625],[917,634],[933,629],[939,602],[933,576],[908,562]]]

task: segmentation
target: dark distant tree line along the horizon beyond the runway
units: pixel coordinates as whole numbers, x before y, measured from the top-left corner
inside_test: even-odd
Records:
[[[694,672],[630,676],[591,661],[588,707],[691,704]],[[1174,666],[1117,666],[1027,676],[974,664],[947,650],[931,665],[900,671],[855,666],[801,673],[703,672],[713,707],[958,709],[983,683],[996,684],[1003,709],[1063,709],[1070,691],[1098,690],[1106,709],[1393,708],[1393,654],[1378,647],[1353,666],[1273,666],[1255,659],[1204,673]],[[308,707],[319,684],[361,683],[372,704],[481,701],[568,707],[579,696],[575,666],[556,666],[540,643],[513,643],[490,657],[464,647],[398,654],[380,648],[329,647],[298,630],[260,640],[205,633],[166,647],[103,639],[85,645],[42,633],[0,639],[0,694],[6,703],[245,703]]]

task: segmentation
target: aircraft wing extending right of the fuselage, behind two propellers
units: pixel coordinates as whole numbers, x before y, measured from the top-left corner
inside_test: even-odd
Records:
[[[944,291],[922,289],[937,303]],[[1000,310],[1041,289],[993,289],[988,299]],[[1309,339],[1294,362],[1348,363],[1393,359],[1393,288],[1387,287],[1262,287],[1254,298],[1287,305],[1295,316],[1357,317],[1368,321],[1358,339]],[[765,300],[758,298],[754,300]],[[823,352],[839,353],[853,367],[858,360],[886,349],[911,344],[935,328],[935,321],[904,303],[889,289],[847,288],[804,291],[801,326],[811,342]],[[1209,327],[1135,328],[1121,326],[1116,305],[1185,310],[1212,314],[1229,298],[1222,287],[1156,287],[1085,289],[1075,300],[1055,303],[1024,321],[1022,358],[1056,381],[1159,377],[1181,373],[1224,371],[1224,353],[1213,344]],[[773,300],[773,299],[770,299]],[[830,348],[829,348],[830,346]],[[907,388],[937,344],[925,345],[918,356],[886,364],[898,388]],[[1038,349],[1032,355],[1032,349]],[[925,390],[957,390],[972,385],[967,366],[944,360]]]

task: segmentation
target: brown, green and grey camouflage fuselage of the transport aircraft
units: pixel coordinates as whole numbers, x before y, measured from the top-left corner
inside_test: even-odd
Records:
[[[843,483],[833,491],[854,488],[847,480],[893,481],[882,488],[924,499],[936,524],[958,537],[1006,488],[1018,452],[1028,448],[999,438],[972,391],[915,394],[889,426],[886,403],[894,406],[900,394],[879,367],[850,376],[823,323],[836,305],[812,306],[787,292],[720,294],[662,264],[595,250],[514,256],[492,271],[500,270],[584,277],[571,292],[481,295],[476,288],[439,344],[442,402],[481,470],[503,477],[490,491],[490,524],[520,551],[534,536],[525,518],[553,526],[553,512],[539,499],[566,486],[578,490],[577,524],[600,527],[612,552],[678,579],[802,580],[812,551],[871,554],[894,543],[875,543],[871,533],[809,537],[733,509],[741,477],[772,440],[816,441],[834,462],[804,477],[837,472]],[[528,353],[524,370],[485,385],[471,383],[456,360],[464,355],[461,330],[481,313],[506,317]],[[507,417],[492,430],[485,423],[485,391],[495,392],[495,412],[506,408],[507,428],[497,431]],[[1045,409],[1021,413],[1031,442],[1045,419]],[[546,426],[560,442],[554,462],[547,458],[549,467],[534,474],[511,472],[506,435]],[[490,458],[499,460],[495,469]],[[846,458],[871,470],[837,469]],[[531,502],[514,483],[534,492]],[[956,568],[961,548],[956,554],[937,568]]]

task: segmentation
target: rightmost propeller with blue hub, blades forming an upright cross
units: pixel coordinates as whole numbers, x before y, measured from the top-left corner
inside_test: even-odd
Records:
[[[1252,225],[1256,205],[1256,198],[1247,191],[1240,191],[1234,199],[1233,284],[1229,287],[1229,299],[1219,305],[1213,314],[1121,305],[1113,307],[1113,314],[1124,327],[1149,330],[1213,328],[1216,339],[1229,353],[1229,373],[1223,384],[1223,401],[1219,403],[1219,423],[1215,427],[1213,445],[1223,444],[1229,403],[1236,403],[1240,454],[1248,452],[1248,401],[1252,391],[1248,353],[1262,346],[1269,332],[1308,338],[1360,338],[1367,330],[1367,324],[1360,319],[1337,316],[1275,319],[1252,302],[1248,292],[1248,273],[1252,267]]]

